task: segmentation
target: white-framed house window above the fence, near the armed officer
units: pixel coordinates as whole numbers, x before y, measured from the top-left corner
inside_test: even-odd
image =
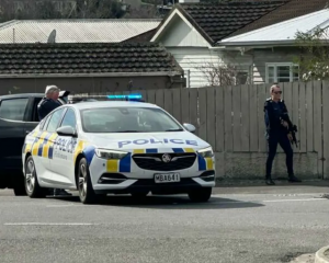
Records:
[[[298,65],[266,64],[266,83],[298,81]]]

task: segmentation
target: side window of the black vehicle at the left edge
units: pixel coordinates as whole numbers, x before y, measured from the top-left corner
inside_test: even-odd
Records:
[[[0,117],[11,121],[23,121],[29,98],[3,100],[0,105]]]

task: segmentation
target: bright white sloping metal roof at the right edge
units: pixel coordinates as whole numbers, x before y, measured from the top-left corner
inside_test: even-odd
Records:
[[[219,42],[222,45],[263,44],[271,42],[292,42],[296,39],[296,33],[311,32],[316,27],[326,28],[329,26],[329,10],[313,12],[296,19],[287,20],[260,30],[254,30],[241,35],[231,36]]]

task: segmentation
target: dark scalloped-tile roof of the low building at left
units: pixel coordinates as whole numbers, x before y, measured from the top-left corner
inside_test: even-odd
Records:
[[[0,76],[168,76],[182,69],[155,43],[0,44]]]

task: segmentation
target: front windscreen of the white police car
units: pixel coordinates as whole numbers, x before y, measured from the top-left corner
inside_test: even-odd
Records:
[[[161,108],[101,107],[81,111],[84,133],[180,132],[181,126]]]

